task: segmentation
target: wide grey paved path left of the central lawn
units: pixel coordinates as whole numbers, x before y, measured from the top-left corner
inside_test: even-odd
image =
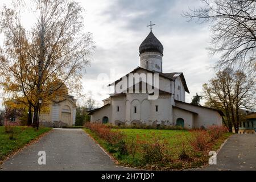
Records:
[[[39,165],[39,151],[46,152],[46,165]],[[53,129],[39,142],[8,159],[0,167],[15,171],[125,170],[117,167],[81,129]]]

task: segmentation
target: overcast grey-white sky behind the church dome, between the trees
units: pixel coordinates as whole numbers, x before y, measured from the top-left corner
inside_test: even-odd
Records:
[[[7,0],[1,0],[2,3]],[[202,85],[214,76],[211,68],[217,57],[207,51],[210,32],[207,24],[187,22],[182,11],[201,5],[200,0],[85,0],[85,31],[92,32],[96,51],[83,77],[84,93],[92,96],[101,106],[108,98],[104,87],[115,78],[139,66],[139,46],[155,23],[153,32],[164,46],[163,72],[183,72],[192,96],[201,93]],[[110,72],[115,72],[110,77]],[[110,80],[99,81],[102,73]],[[104,86],[103,86],[104,85]]]

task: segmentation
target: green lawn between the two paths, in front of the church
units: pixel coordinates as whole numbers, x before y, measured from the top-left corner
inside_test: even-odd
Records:
[[[123,166],[143,168],[143,169],[188,169],[196,168],[207,164],[209,156],[208,152],[195,152],[192,146],[189,144],[189,139],[192,137],[191,132],[187,130],[145,130],[145,129],[112,129],[112,131],[121,131],[126,135],[125,142],[128,144],[131,142],[149,142],[157,143],[157,139],[160,142],[166,143],[164,148],[168,158],[168,162],[155,162],[154,164],[147,164],[143,161],[142,147],[139,146],[134,156],[131,154],[120,155],[114,151],[113,148],[104,139],[99,138],[95,133],[89,129],[85,129],[86,133],[90,134],[97,142],[105,148],[117,161]],[[217,139],[211,144],[209,151],[217,151],[221,144],[231,134],[225,133],[223,137]],[[189,154],[189,160],[180,160],[179,154],[181,148],[185,147],[185,151]]]

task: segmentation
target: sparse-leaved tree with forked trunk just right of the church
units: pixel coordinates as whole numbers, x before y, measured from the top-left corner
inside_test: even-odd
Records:
[[[222,110],[224,123],[229,131],[238,133],[241,122],[240,109],[255,108],[255,81],[243,72],[225,69],[216,74],[208,84],[204,84],[205,105]]]

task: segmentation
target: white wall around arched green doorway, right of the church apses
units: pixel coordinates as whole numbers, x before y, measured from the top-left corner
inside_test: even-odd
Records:
[[[187,129],[192,129],[193,127],[193,113],[189,113],[188,111],[184,111],[181,109],[174,108],[174,121],[175,125],[177,119],[182,118],[184,120],[184,126]]]

